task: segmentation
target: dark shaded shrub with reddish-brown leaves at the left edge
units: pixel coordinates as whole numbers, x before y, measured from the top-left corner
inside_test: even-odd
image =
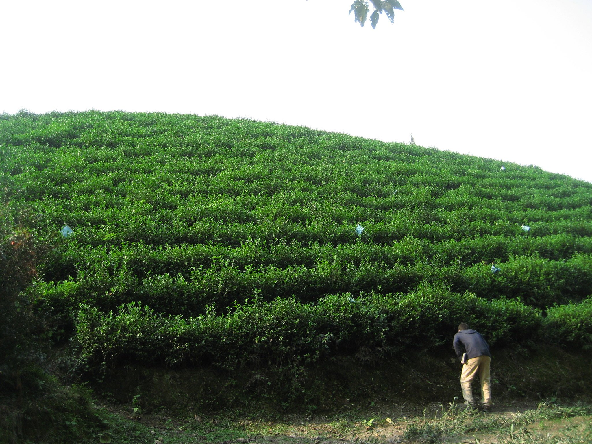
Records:
[[[42,368],[44,323],[20,291],[47,246],[24,227],[30,213],[14,210],[0,208],[0,442],[75,442],[103,420],[88,388],[64,387]]]

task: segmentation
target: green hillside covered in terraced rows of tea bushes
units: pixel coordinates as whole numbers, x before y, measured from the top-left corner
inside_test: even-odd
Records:
[[[217,116],[20,112],[0,143],[1,248],[16,227],[48,246],[25,294],[90,374],[294,382],[448,346],[461,321],[490,345],[592,344],[587,182]]]

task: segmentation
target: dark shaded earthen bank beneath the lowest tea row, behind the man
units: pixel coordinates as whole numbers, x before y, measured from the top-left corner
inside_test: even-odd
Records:
[[[259,365],[237,371],[130,364],[101,375],[92,387],[112,403],[136,399],[147,413],[166,407],[181,415],[229,408],[244,413],[335,413],[349,411],[353,402],[441,403],[459,395],[461,366],[449,346],[371,359],[371,350],[360,350],[356,356],[332,356],[314,365]],[[568,353],[548,345],[533,352],[512,345],[493,348],[492,362],[496,400],[592,399],[587,352]]]

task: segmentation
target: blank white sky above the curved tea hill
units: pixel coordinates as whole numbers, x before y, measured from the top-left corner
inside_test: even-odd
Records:
[[[592,182],[591,0],[0,0],[0,112],[249,117]]]

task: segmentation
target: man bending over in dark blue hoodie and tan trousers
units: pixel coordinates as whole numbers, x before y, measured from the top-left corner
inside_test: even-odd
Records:
[[[462,361],[463,353],[466,353],[461,373],[462,397],[465,399],[465,406],[475,407],[471,384],[478,373],[481,381],[481,404],[484,411],[490,411],[492,405],[489,369],[491,353],[487,341],[477,330],[471,330],[467,324],[462,323],[458,326],[458,333],[454,335],[452,346],[459,360]]]

